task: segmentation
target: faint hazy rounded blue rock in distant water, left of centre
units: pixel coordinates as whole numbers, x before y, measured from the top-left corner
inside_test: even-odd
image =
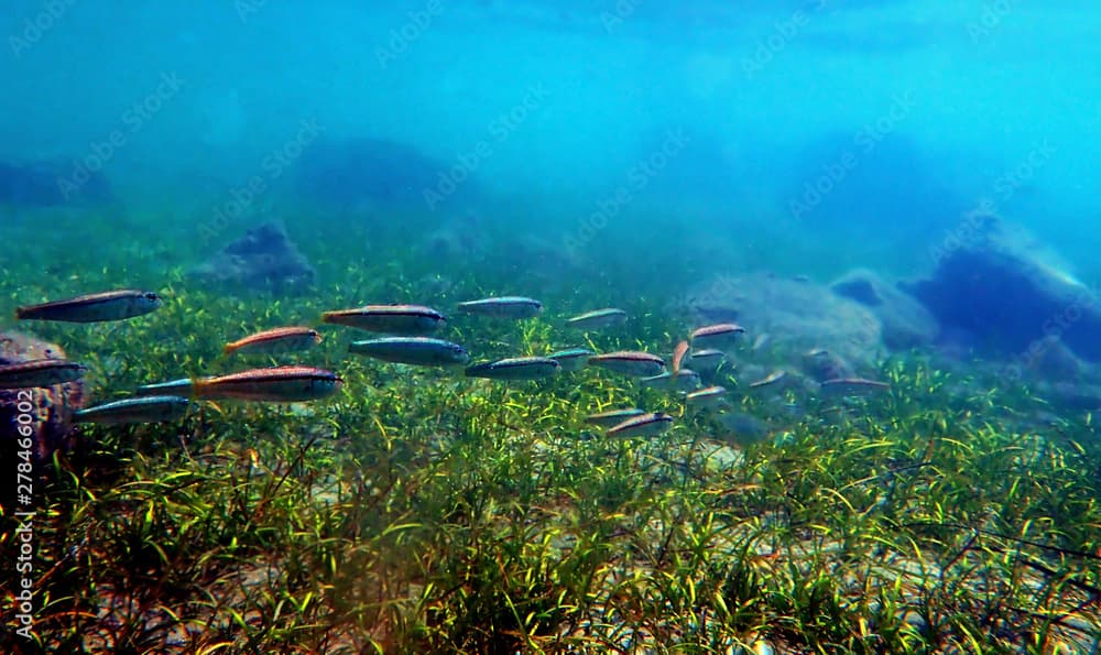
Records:
[[[433,210],[477,194],[471,172],[454,174],[457,167],[396,141],[321,138],[299,159],[295,184],[304,198],[345,211],[417,205]]]

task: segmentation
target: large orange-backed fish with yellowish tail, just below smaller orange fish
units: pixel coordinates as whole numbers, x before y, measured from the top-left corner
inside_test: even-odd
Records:
[[[331,395],[342,382],[339,375],[323,369],[273,367],[195,380],[193,394],[208,400],[297,403]]]

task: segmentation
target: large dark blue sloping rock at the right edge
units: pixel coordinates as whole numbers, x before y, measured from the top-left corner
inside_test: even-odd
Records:
[[[922,302],[948,335],[1032,368],[1056,337],[1077,357],[1101,361],[1095,294],[1062,272],[1020,229],[995,216],[969,219],[968,239],[938,253],[931,276],[902,288]]]

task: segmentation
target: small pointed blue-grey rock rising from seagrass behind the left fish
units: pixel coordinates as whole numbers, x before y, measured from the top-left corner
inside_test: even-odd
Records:
[[[283,227],[269,222],[249,230],[189,275],[229,290],[301,293],[314,283],[315,272]]]

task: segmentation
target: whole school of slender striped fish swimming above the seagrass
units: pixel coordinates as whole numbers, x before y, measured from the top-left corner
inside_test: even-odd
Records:
[[[116,290],[19,307],[19,320],[100,323],[126,320],[156,310],[163,298],[142,290]],[[543,303],[523,296],[497,296],[459,303],[456,309],[491,319],[522,320],[538,316]],[[566,326],[581,331],[597,331],[620,326],[628,320],[623,309],[608,307],[571,317]],[[669,365],[663,357],[645,351],[597,353],[571,348],[546,357],[517,356],[470,363],[470,353],[456,342],[432,337],[447,325],[440,312],[424,305],[363,305],[326,312],[321,323],[373,332],[375,338],[356,340],[348,352],[383,362],[417,367],[465,367],[468,378],[499,381],[542,380],[563,372],[595,367],[635,379],[643,386],[664,386],[679,392],[691,411],[721,410],[727,390],[702,387],[701,372],[713,373],[729,349],[745,335],[733,323],[699,327],[677,342]],[[321,335],[307,326],[275,327],[229,342],[225,356],[282,356],[302,352],[321,342]],[[695,367],[695,368],[689,368]],[[79,380],[87,367],[64,359],[40,359],[0,365],[0,389],[44,387]],[[777,384],[783,371],[750,384],[751,389]],[[307,365],[253,368],[226,375],[183,378],[140,386],[128,399],[103,403],[74,413],[76,423],[122,425],[178,421],[196,401],[236,400],[246,402],[297,403],[335,394],[341,378]],[[825,382],[824,393],[860,395],[884,391],[883,382],[859,378]],[[651,437],[664,434],[675,418],[662,412],[637,407],[603,411],[586,417],[586,423],[606,430],[609,436]]]

